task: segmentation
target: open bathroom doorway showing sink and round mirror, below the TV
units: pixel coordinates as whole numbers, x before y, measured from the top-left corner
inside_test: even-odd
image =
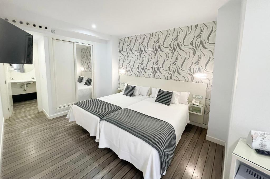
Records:
[[[1,78],[4,78],[1,81],[4,83],[0,85],[2,102],[6,107],[3,109],[5,119],[12,116],[13,106],[18,102],[36,103],[37,112],[42,111],[38,44],[43,35],[31,31],[28,33],[33,35],[33,64],[3,64],[1,67]]]

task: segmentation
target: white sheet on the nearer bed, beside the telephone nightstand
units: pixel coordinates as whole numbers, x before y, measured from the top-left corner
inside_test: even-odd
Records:
[[[155,102],[154,98],[148,98],[127,108],[170,123],[176,133],[176,144],[189,123],[188,106],[185,104],[167,106]],[[100,122],[99,148],[104,147],[112,149],[119,158],[132,163],[143,172],[144,178],[161,177],[160,157],[157,150],[107,121]]]

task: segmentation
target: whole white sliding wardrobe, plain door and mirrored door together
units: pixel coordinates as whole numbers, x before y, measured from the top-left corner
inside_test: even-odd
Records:
[[[93,84],[93,46],[52,39],[54,74],[52,103],[56,112],[68,110],[78,101],[95,97]],[[95,78],[94,78],[95,79]]]

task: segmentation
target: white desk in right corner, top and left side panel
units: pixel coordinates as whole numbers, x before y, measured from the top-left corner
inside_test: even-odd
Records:
[[[234,178],[241,163],[249,165],[264,174],[270,175],[270,156],[258,154],[246,144],[244,138],[240,138],[233,153],[230,178]]]

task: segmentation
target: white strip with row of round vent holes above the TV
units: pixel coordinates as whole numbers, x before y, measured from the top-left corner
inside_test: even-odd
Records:
[[[45,24],[35,23],[31,21],[26,21],[18,18],[10,18],[10,17],[1,17],[2,19],[5,19],[6,21],[10,22],[11,24],[14,24],[16,26],[25,26],[28,28],[34,28],[34,29],[40,29],[43,31],[50,32],[50,27]]]

